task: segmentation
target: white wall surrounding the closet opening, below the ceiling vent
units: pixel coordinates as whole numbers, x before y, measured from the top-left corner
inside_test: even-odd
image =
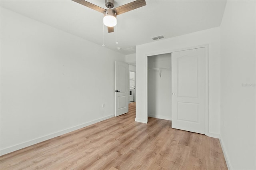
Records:
[[[220,28],[136,46],[136,121],[147,123],[147,56],[209,45],[209,135],[220,134]]]

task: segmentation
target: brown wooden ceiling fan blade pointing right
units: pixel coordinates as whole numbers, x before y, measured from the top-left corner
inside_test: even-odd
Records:
[[[137,8],[140,8],[145,5],[146,5],[145,0],[136,0],[136,1],[130,2],[128,4],[118,6],[118,7],[114,8],[113,11],[116,12],[116,15],[120,15],[120,14],[123,14],[124,12],[128,12],[128,11],[137,9]]]

